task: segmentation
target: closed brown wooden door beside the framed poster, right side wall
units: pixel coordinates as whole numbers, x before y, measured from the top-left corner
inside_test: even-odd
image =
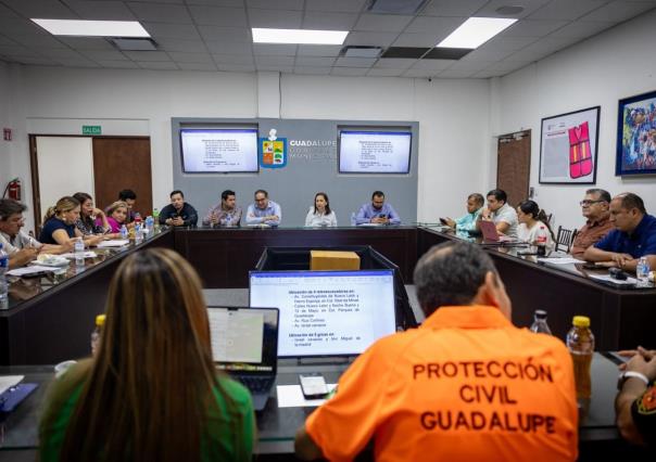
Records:
[[[496,188],[508,195],[508,204],[517,207],[529,197],[531,175],[531,131],[499,137]]]

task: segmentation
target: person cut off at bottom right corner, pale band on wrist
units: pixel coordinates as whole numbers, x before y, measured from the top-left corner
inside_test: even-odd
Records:
[[[615,412],[619,432],[630,442],[656,445],[656,350],[638,347],[618,384]]]

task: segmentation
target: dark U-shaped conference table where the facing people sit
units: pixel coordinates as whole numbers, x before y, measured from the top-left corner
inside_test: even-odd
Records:
[[[197,269],[205,288],[245,288],[269,246],[332,247],[370,245],[399,267],[412,284],[417,259],[432,245],[457,240],[421,226],[162,229],[140,244],[96,249],[78,269],[46,278],[11,278],[7,309],[0,309],[0,364],[52,364],[89,354],[94,317],[104,311],[109,282],[121,261],[149,247],[174,248]],[[485,246],[513,300],[513,322],[528,326],[535,309],[545,309],[554,335],[565,338],[576,315],[591,318],[600,350],[655,348],[656,288],[621,288],[591,279],[581,265],[537,262],[517,247]],[[605,272],[605,270],[601,270]],[[598,271],[597,271],[598,272]]]

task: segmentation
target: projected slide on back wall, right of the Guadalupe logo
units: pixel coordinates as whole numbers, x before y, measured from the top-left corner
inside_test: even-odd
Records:
[[[407,174],[412,133],[406,131],[341,131],[341,174]]]

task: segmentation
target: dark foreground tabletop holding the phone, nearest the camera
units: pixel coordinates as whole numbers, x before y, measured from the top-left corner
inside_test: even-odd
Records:
[[[610,359],[609,359],[610,358]],[[297,360],[279,361],[276,386],[262,412],[256,413],[257,442],[255,452],[258,459],[267,455],[293,453],[293,440],[297,428],[312,413],[315,407],[279,407],[278,385],[298,385],[299,374],[320,372],[328,383],[336,383],[349,362],[341,363],[299,363]],[[52,365],[0,367],[0,375],[24,375],[24,382],[39,386],[11,414],[0,414],[0,461],[12,460],[18,452],[34,454],[38,447],[38,421],[42,412],[43,399],[48,386],[54,380]],[[580,408],[579,439],[580,450],[593,451],[600,445],[621,445],[615,425],[614,399],[617,393],[618,369],[609,355],[596,352],[592,368],[592,398],[584,408]]]

